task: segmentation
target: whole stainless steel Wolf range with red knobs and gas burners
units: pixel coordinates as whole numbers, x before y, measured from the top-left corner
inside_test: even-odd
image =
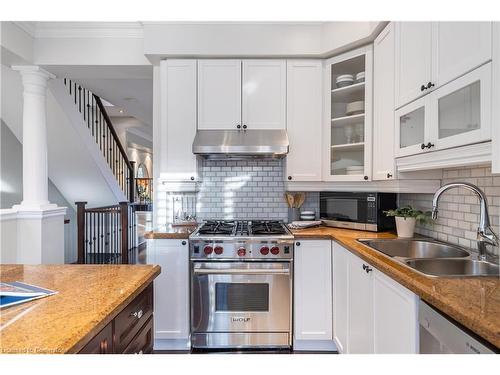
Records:
[[[189,237],[194,348],[292,342],[293,235],[280,221],[207,221]]]

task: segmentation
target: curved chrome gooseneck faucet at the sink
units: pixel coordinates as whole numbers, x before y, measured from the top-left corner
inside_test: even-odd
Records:
[[[432,199],[432,218],[435,220],[438,217],[438,202],[441,194],[447,190],[459,187],[472,191],[479,198],[479,227],[477,228],[479,259],[486,260],[486,245],[498,246],[499,239],[495,232],[493,232],[493,229],[491,229],[486,195],[476,185],[469,184],[468,182],[453,182],[441,186],[434,193],[434,198]]]

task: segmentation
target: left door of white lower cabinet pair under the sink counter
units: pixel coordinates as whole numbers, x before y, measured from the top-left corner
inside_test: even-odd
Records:
[[[373,353],[373,267],[355,255],[349,259],[349,353]]]

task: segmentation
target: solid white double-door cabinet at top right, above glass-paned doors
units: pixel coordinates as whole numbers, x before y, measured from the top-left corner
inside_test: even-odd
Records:
[[[491,60],[491,22],[396,23],[396,107]]]

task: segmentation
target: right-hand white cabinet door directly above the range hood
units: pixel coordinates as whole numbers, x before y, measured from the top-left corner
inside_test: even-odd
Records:
[[[243,60],[242,125],[285,129],[286,61]]]

